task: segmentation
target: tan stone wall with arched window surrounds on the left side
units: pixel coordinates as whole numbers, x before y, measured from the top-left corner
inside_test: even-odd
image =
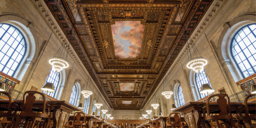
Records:
[[[34,86],[41,92],[40,89],[51,69],[49,59],[57,53],[66,36],[43,0],[1,0],[0,23],[10,23],[20,29],[27,42],[25,58],[14,74],[14,77],[21,81],[15,86],[15,90],[25,92]],[[73,47],[68,51],[67,60],[69,67],[60,72],[59,87],[54,98],[69,102],[73,86],[76,84],[78,91],[75,106],[78,106],[78,103],[85,101],[81,90],[85,89],[90,79],[89,73]],[[92,79],[89,80],[87,89],[93,91],[90,96],[89,114],[92,112],[94,100],[103,103],[101,109],[111,110]],[[98,109],[96,114],[97,112]]]

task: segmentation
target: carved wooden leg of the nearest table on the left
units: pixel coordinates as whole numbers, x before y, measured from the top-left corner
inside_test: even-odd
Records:
[[[69,112],[60,108],[55,108],[53,111],[53,126],[52,128],[64,128],[69,118]]]

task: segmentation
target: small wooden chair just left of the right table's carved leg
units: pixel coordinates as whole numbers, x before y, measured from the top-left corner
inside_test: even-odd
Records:
[[[171,115],[174,114],[174,122],[171,123]],[[168,121],[167,121],[167,124],[166,124],[166,128],[167,127],[182,127],[181,125],[181,115],[180,113],[171,113],[168,117]]]

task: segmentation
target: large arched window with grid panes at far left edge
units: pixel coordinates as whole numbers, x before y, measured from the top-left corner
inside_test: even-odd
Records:
[[[12,25],[0,24],[0,70],[13,76],[26,52],[22,33]]]

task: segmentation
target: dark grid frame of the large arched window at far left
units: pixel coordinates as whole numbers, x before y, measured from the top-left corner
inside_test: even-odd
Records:
[[[17,69],[18,69],[18,67],[20,66],[20,63],[22,62],[22,60],[23,60],[23,58],[25,57],[25,54],[26,54],[26,51],[27,51],[27,42],[26,42],[26,38],[25,38],[25,36],[21,33],[21,31],[17,28],[17,27],[15,27],[15,26],[13,26],[13,25],[11,25],[11,24],[9,24],[9,23],[0,23],[0,25],[2,24],[2,26],[3,25],[8,25],[9,27],[8,27],[8,29],[7,30],[5,30],[5,32],[4,32],[4,34],[0,37],[0,41],[1,41],[1,39],[4,37],[4,35],[7,33],[7,31],[11,28],[11,27],[13,27],[13,28],[15,28],[15,30],[18,30],[18,32],[21,34],[21,36],[22,36],[22,38],[20,39],[20,42],[22,41],[22,39],[23,39],[23,41],[24,41],[24,47],[25,47],[25,50],[24,50],[24,53],[23,53],[23,55],[22,55],[22,58],[20,59],[20,61],[18,62],[18,65],[17,65],[17,67],[13,70],[13,73],[12,73],[12,75],[10,75],[10,76],[14,76],[14,74],[15,74],[15,72],[17,71]],[[2,28],[2,26],[1,26],[1,28]],[[14,31],[15,31],[14,30]],[[14,33],[14,31],[13,31],[13,33]],[[12,34],[13,34],[12,33]],[[11,36],[12,36],[12,34],[11,34]],[[8,41],[9,41],[9,39],[11,38],[11,36],[8,38]],[[17,36],[18,37],[18,36]],[[16,38],[17,38],[16,37]],[[15,38],[15,39],[16,39]],[[14,41],[15,41],[15,39],[14,39]],[[12,42],[12,44],[14,43],[14,41]],[[19,44],[21,44],[19,42]],[[5,43],[5,44],[7,44],[7,43]],[[4,45],[5,45],[4,44]],[[19,46],[19,44],[17,45],[17,47]],[[7,45],[9,45],[9,44],[7,44]],[[10,46],[11,47],[11,46]],[[6,53],[10,50],[10,47],[9,47],[9,49],[6,51]],[[12,55],[14,54],[14,52],[17,50],[17,47],[14,49],[14,51],[13,51],[13,53],[12,53]],[[2,47],[2,49],[4,48],[4,46]],[[0,51],[2,50],[2,49],[0,49]],[[21,49],[22,50],[22,49]],[[6,55],[6,53],[4,53],[4,55]],[[20,52],[19,52],[19,54],[20,54]],[[18,54],[18,55],[19,55]],[[12,58],[12,55],[10,55],[10,58],[7,60],[7,62],[5,63],[5,65],[4,65],[4,67],[3,67],[3,69],[1,70],[1,71],[3,71],[4,70],[4,68],[7,66],[7,64],[9,63],[9,61],[10,61],[10,59]],[[17,55],[17,58],[18,58],[18,55]],[[3,57],[4,58],[4,57]],[[2,58],[2,59],[3,59]],[[0,60],[0,62],[2,61],[2,59]],[[14,60],[14,62],[15,62],[15,60]],[[13,63],[14,63],[13,62]],[[12,63],[12,65],[13,65],[13,63]],[[11,66],[12,67],[12,66]],[[11,68],[9,69],[9,71],[10,70],[12,70]],[[8,73],[9,73],[9,71],[8,71]],[[8,73],[6,73],[6,74],[8,74]]]

